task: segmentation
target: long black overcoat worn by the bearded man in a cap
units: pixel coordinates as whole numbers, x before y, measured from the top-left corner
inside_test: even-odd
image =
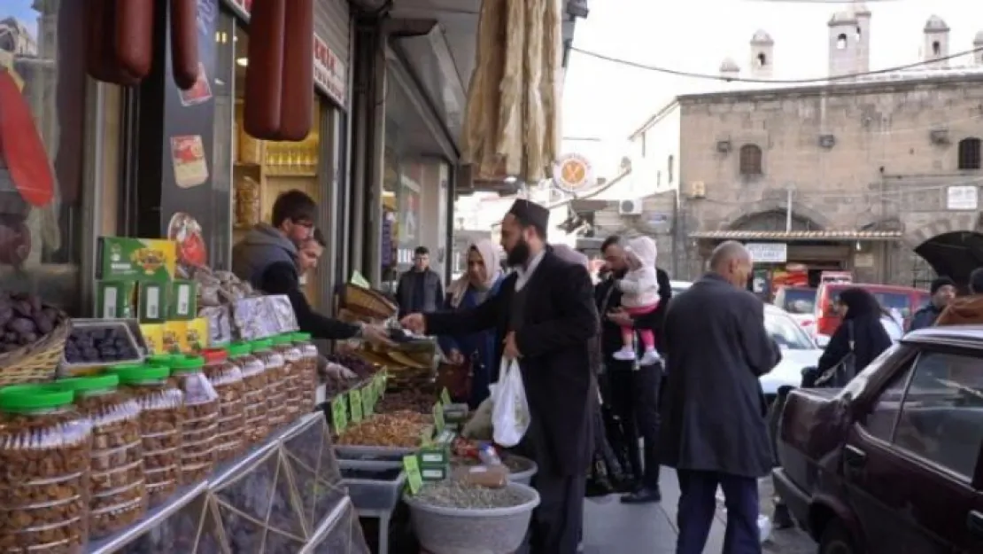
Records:
[[[427,314],[427,333],[494,329],[495,357],[501,359],[515,280],[515,274],[505,277],[498,294],[473,309]],[[598,333],[591,277],[583,266],[548,250],[525,286],[526,319],[516,344],[534,425],[541,431],[543,444],[534,447],[542,453],[537,462],[548,463],[552,473],[583,474],[594,449],[591,396],[597,395],[589,346]]]

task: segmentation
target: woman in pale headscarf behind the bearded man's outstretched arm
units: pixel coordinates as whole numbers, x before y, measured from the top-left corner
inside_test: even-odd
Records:
[[[447,287],[447,307],[468,310],[481,305],[498,292],[502,280],[498,245],[479,239],[468,248],[468,270]],[[489,385],[498,379],[494,330],[473,335],[444,336],[440,348],[454,365],[470,362],[471,391],[468,405],[475,409],[489,398]]]

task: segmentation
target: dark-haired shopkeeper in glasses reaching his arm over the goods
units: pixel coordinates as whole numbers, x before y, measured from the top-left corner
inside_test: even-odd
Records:
[[[298,247],[314,235],[317,214],[318,204],[307,194],[298,190],[281,194],[273,203],[272,221],[257,224],[232,248],[232,272],[267,294],[286,294],[301,331],[315,339],[389,343],[379,327],[325,317],[308,303],[301,289]]]

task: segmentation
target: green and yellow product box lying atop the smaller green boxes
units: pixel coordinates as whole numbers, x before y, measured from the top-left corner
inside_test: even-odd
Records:
[[[106,280],[174,278],[177,243],[157,238],[103,236],[98,241],[96,277]]]

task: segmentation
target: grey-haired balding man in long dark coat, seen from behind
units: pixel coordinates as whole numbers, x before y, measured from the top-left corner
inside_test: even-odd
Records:
[[[760,554],[758,478],[772,469],[767,404],[758,378],[781,361],[765,306],[745,289],[751,256],[738,242],[714,250],[710,273],[665,314],[663,462],[679,476],[677,554],[700,554],[723,489],[723,551]]]

